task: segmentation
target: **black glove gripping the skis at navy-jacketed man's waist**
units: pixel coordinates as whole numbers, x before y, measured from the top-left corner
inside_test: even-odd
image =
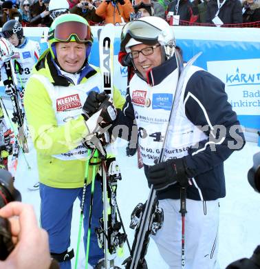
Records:
[[[179,183],[181,188],[186,188],[189,180],[187,171],[184,157],[169,159],[154,166],[149,166],[147,179],[150,184],[153,184],[155,190],[164,190],[175,183]]]

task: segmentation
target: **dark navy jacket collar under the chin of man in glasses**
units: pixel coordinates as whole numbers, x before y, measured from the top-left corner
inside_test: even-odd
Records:
[[[147,71],[147,83],[150,86],[156,86],[160,84],[171,72],[177,68],[177,61],[175,55],[169,60],[164,61],[160,66],[151,68]]]

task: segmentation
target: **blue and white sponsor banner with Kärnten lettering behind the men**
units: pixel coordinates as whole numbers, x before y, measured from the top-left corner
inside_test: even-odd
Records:
[[[94,43],[89,62],[95,66],[99,66],[97,32],[100,28],[91,27]],[[113,81],[125,94],[127,68],[118,63],[121,27],[115,29]],[[173,30],[184,61],[202,52],[195,66],[208,70],[226,84],[228,101],[243,126],[260,130],[260,29],[178,26]],[[47,48],[43,37],[43,34],[47,37],[47,28],[24,28],[24,32],[29,38],[39,41],[43,50]],[[3,88],[1,90],[3,92]]]

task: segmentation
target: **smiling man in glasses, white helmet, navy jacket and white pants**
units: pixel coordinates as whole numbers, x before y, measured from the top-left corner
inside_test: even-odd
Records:
[[[121,48],[130,53],[136,71],[111,132],[112,137],[123,139],[139,135],[144,173],[164,210],[164,223],[153,239],[169,268],[182,268],[185,263],[185,268],[213,269],[217,264],[219,198],[226,196],[224,161],[245,143],[225,85],[197,66],[182,69],[171,26],[161,18],[143,17],[127,23],[122,28]],[[181,72],[183,84],[177,86]],[[86,102],[91,112],[99,108],[98,97],[89,93]],[[122,133],[116,132],[118,128]],[[183,192],[185,255],[180,214]]]

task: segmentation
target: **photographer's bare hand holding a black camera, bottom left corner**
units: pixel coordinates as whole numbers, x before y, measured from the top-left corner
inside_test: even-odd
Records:
[[[47,232],[32,206],[21,203],[10,172],[0,169],[0,269],[58,269],[50,256]]]

